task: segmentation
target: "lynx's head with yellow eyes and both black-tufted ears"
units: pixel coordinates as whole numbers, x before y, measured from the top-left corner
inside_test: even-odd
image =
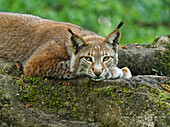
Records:
[[[118,43],[120,40],[120,26],[106,38],[100,36],[86,36],[81,38],[72,34],[73,51],[71,53],[70,69],[76,75],[87,75],[92,80],[105,79],[110,66],[118,63]]]

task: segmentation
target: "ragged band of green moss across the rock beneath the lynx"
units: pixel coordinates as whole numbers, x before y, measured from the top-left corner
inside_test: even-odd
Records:
[[[109,100],[109,102],[107,102],[109,105],[119,106],[122,110],[126,109],[127,106],[136,108],[136,110],[140,108],[143,109],[144,106],[147,105],[147,102],[140,102],[141,100],[138,100],[139,97],[136,97],[138,92],[149,91],[152,95],[151,99],[155,102],[154,107],[158,109],[168,108],[167,101],[169,97],[146,84],[141,84],[134,88],[128,84],[109,83],[108,85],[104,82],[102,84],[90,80],[85,84],[72,84],[40,77],[28,78],[22,76],[21,79],[24,85],[19,80],[16,83],[22,87],[20,100],[23,103],[33,104],[33,107],[36,109],[54,112],[58,117],[65,119],[79,120],[80,118],[83,119],[89,116],[93,118],[95,111],[98,111],[96,109],[99,108],[96,106],[96,104],[98,104],[95,102],[96,98],[101,99],[101,102],[103,101],[102,98],[105,98]],[[141,105],[134,104],[138,103],[136,101],[139,101]],[[87,108],[89,105],[92,107]],[[134,105],[137,106],[134,107]],[[148,105],[152,106],[151,103]],[[93,112],[93,115],[90,115],[89,112]]]

